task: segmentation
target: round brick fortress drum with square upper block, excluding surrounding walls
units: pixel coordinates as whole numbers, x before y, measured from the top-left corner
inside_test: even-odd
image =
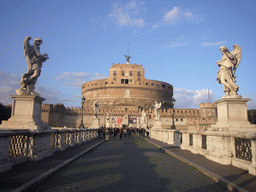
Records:
[[[113,64],[109,77],[89,81],[82,85],[86,98],[84,107],[91,108],[99,100],[101,109],[154,108],[155,101],[162,102],[161,108],[172,107],[173,86],[145,79],[145,70],[137,64]]]

